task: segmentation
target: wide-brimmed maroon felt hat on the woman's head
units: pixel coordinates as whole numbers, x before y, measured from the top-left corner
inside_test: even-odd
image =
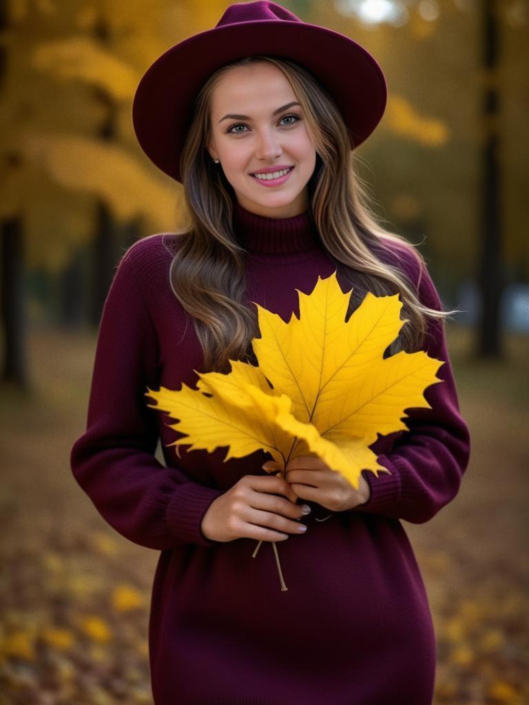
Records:
[[[282,56],[308,68],[338,106],[351,149],[369,137],[384,114],[384,73],[360,44],[303,22],[269,0],[236,3],[212,30],[159,56],[140,80],[134,130],[147,157],[162,171],[181,181],[180,157],[193,102],[207,78],[220,66],[254,54]]]

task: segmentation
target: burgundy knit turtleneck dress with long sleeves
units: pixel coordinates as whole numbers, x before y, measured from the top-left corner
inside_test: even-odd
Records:
[[[257,216],[236,204],[245,247],[248,306],[288,321],[298,292],[336,267],[308,212]],[[220,542],[201,531],[217,497],[246,474],[266,475],[257,451],[223,462],[167,447],[183,434],[147,407],[147,386],[195,387],[205,372],[193,322],[174,296],[169,265],[178,237],[152,235],[121,257],[104,305],[85,433],[71,450],[78,484],[109,524],[159,551],[150,611],[156,705],[430,705],[436,643],[425,586],[401,520],[430,520],[458,492],[470,439],[460,414],[442,322],[424,350],[444,360],[443,383],[427,388],[431,409],[409,412],[409,431],[379,436],[372,450],[391,474],[363,471],[369,501],[329,512],[311,501],[305,534],[276,544]],[[406,245],[384,255],[441,309],[427,271]],[[351,287],[342,287],[349,290]],[[431,319],[430,319],[431,321]],[[154,457],[161,440],[164,464]],[[226,439],[229,441],[229,439]],[[327,519],[325,518],[327,517]],[[317,521],[317,519],[325,519]]]

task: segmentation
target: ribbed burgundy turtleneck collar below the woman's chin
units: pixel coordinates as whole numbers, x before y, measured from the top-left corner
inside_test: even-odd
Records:
[[[288,255],[320,245],[320,236],[308,210],[290,218],[268,218],[251,213],[235,202],[233,229],[249,252]]]

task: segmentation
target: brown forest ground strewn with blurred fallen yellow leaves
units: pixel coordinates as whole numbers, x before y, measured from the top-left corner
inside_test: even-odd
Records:
[[[437,635],[435,705],[529,702],[529,339],[472,359],[447,329],[472,456],[458,496],[403,522]],[[28,333],[32,392],[0,401],[0,705],[151,705],[157,552],[97,514],[69,465],[85,429],[95,336]],[[388,704],[389,705],[389,704]]]

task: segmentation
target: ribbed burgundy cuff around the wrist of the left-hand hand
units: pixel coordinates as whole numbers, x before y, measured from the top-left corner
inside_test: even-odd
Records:
[[[178,541],[199,546],[218,546],[219,541],[207,539],[200,529],[200,522],[209,505],[224,494],[221,489],[205,487],[197,482],[178,486],[167,505],[167,523]]]

